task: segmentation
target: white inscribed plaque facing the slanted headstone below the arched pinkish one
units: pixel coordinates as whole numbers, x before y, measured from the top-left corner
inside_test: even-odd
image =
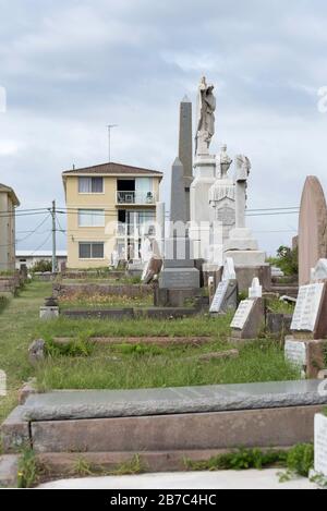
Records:
[[[315,330],[324,287],[325,284],[323,283],[301,285],[291,330],[310,332]]]

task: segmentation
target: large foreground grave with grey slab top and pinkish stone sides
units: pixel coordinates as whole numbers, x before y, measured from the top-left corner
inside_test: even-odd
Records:
[[[179,452],[182,459],[185,451],[311,442],[314,415],[327,403],[319,384],[302,380],[34,394],[3,423],[4,452],[29,441],[36,453],[160,451],[167,455]]]

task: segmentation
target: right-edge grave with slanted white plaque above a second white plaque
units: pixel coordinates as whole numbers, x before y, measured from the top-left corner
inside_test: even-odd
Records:
[[[301,285],[286,338],[286,358],[303,368],[308,378],[316,378],[327,365],[327,272],[325,260],[311,270],[311,283]]]

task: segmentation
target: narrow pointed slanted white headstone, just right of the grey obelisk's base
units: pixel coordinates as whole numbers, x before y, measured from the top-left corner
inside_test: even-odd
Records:
[[[213,302],[210,314],[226,314],[228,311],[235,311],[238,307],[238,281],[234,264],[231,258],[227,258],[222,272],[222,280],[219,282]]]

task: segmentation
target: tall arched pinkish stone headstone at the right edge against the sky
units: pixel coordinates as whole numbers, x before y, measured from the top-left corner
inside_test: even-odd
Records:
[[[306,178],[299,219],[299,283],[307,284],[311,269],[327,257],[327,206],[319,180]]]

